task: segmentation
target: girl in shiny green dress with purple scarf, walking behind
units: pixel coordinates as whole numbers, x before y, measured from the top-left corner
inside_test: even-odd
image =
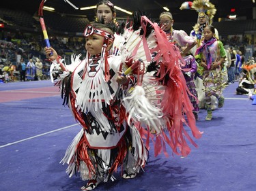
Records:
[[[218,99],[218,107],[223,107],[223,63],[226,52],[221,41],[214,37],[215,29],[208,25],[203,29],[203,41],[197,48],[196,55],[201,58],[200,65],[203,67],[203,85],[205,86],[205,103],[207,116],[205,120],[212,120],[211,96]]]

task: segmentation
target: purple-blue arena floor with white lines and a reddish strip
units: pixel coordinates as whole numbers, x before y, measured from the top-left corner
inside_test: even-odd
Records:
[[[150,160],[134,179],[100,184],[96,191],[253,191],[256,190],[256,105],[236,95],[238,82],[225,91],[225,105],[212,121],[200,110],[197,126],[203,137],[186,158],[163,154]],[[85,184],[68,177],[59,164],[81,129],[59,89],[50,81],[0,84],[0,190],[73,191]]]

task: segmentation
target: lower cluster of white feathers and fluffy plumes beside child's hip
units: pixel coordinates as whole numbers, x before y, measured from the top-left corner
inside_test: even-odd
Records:
[[[145,73],[143,77],[143,85],[135,86],[130,95],[124,98],[124,105],[128,113],[128,123],[130,120],[141,122],[150,126],[156,133],[160,133],[164,128],[164,119],[162,118],[162,110],[160,102],[163,86],[156,84],[150,73]]]

